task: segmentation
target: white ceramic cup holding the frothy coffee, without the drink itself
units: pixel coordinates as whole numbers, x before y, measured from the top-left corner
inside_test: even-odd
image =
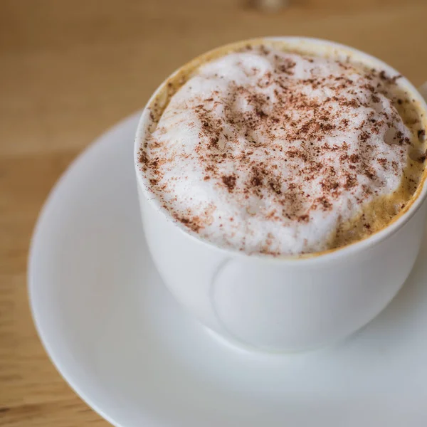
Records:
[[[297,48],[316,46],[319,53],[337,50],[339,55],[349,54],[390,75],[397,74],[366,53],[330,41],[288,37],[269,40]],[[421,94],[405,83],[427,114]],[[210,330],[236,344],[266,351],[320,347],[366,325],[404,284],[423,238],[425,181],[404,214],[383,230],[349,246],[300,258],[226,250],[187,233],[150,193],[138,162],[140,143],[149,126],[147,107],[135,139],[145,236],[170,292]]]

